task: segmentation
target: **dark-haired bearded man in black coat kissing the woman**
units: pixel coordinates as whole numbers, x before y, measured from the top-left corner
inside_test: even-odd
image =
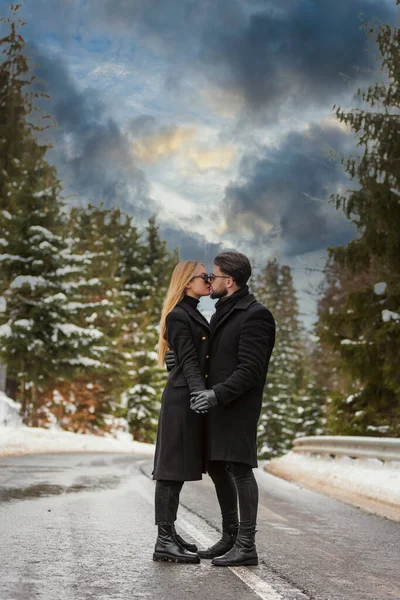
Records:
[[[249,293],[251,265],[239,252],[214,260],[208,388],[191,395],[191,408],[207,412],[207,472],[222,514],[222,537],[199,551],[216,566],[258,564],[255,546],[258,486],[257,422],[275,342],[270,311]],[[171,363],[167,363],[170,365]],[[238,518],[238,504],[240,524]]]

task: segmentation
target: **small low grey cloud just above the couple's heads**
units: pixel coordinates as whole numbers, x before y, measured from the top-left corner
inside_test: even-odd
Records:
[[[220,243],[210,243],[201,235],[177,227],[163,225],[160,232],[171,250],[179,248],[182,260],[198,260],[209,265],[225,249]]]

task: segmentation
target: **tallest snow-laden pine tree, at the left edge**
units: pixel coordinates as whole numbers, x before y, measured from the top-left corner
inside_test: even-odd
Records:
[[[36,136],[44,125],[30,91],[34,76],[23,53],[18,8],[4,19],[10,34],[0,40],[0,355],[25,423],[36,425],[44,386],[71,373],[80,351],[89,360],[102,334],[69,320],[60,184],[45,160],[49,146]]]

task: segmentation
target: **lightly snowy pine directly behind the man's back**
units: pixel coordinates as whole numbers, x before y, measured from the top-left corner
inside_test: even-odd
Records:
[[[291,447],[294,437],[319,426],[320,403],[312,389],[309,352],[300,324],[290,267],[269,260],[255,278],[257,299],[276,321],[272,353],[258,428],[259,455],[271,458]]]

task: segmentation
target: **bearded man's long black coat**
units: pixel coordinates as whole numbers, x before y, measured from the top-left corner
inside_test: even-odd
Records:
[[[208,387],[222,404],[207,414],[207,458],[257,467],[257,422],[275,321],[252,294],[240,298],[214,328],[215,319]]]

